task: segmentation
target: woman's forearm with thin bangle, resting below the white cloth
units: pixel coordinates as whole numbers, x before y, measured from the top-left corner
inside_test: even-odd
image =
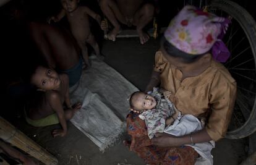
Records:
[[[181,137],[175,137],[167,133],[158,133],[156,138],[152,139],[152,143],[160,147],[171,147],[171,146],[182,146],[191,143],[203,143],[211,140],[205,129],[200,130],[196,133],[184,135]]]

